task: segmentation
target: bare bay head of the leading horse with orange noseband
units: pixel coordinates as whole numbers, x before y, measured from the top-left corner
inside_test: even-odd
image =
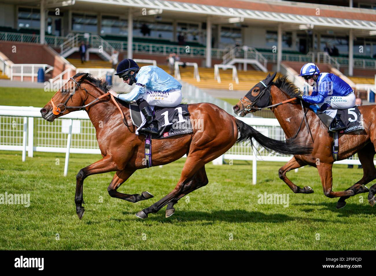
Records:
[[[82,106],[85,99],[85,94],[82,91],[85,89],[80,84],[87,76],[88,73],[78,73],[70,78],[40,110],[42,118],[53,122],[56,118],[74,111],[67,106]]]

